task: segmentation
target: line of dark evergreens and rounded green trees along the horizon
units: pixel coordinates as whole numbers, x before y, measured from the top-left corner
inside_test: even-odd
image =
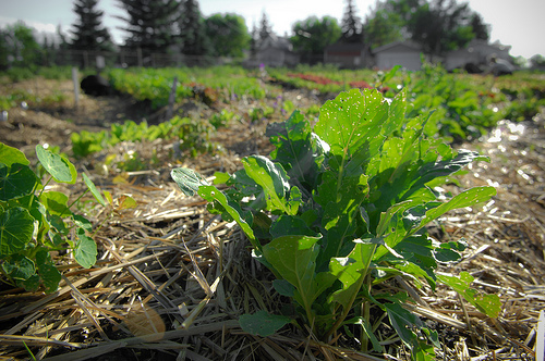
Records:
[[[74,0],[76,21],[71,37],[60,29],[60,43],[38,45],[24,23],[0,32],[0,69],[32,63],[39,49],[53,48],[113,51],[108,28],[102,24],[104,11],[98,0]],[[125,14],[124,49],[144,53],[182,53],[201,57],[243,57],[255,53],[262,40],[274,35],[264,13],[259,24],[249,30],[244,18],[234,13],[203,16],[197,0],[118,0]],[[346,1],[339,24],[332,16],[310,16],[292,25],[290,41],[301,58],[324,53],[335,42],[363,42],[370,50],[396,40],[420,43],[429,55],[465,46],[472,39],[488,40],[489,26],[468,3],[457,0],[376,0],[364,21],[358,15],[353,0]]]

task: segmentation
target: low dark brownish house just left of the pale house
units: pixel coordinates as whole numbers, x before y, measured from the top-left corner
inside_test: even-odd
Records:
[[[324,63],[344,69],[367,67],[373,64],[368,46],[363,42],[336,42],[324,50]]]

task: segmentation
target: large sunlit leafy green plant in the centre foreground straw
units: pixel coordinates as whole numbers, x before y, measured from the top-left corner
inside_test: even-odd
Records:
[[[293,299],[295,324],[324,341],[349,327],[361,345],[371,341],[380,351],[374,309],[388,316],[414,359],[433,360],[426,340],[438,346],[437,334],[403,308],[405,294],[378,286],[393,276],[417,286],[425,281],[433,289],[443,282],[497,315],[496,296],[468,291],[468,277],[435,274],[439,262],[459,260],[465,245],[436,244],[425,228],[449,210],[486,201],[495,189],[475,187],[440,201],[434,187],[485,158],[426,138],[426,119],[407,120],[405,111],[404,92],[391,103],[376,90],[341,92],[322,107],[314,132],[298,111],[271,124],[270,159],[247,157],[243,170],[217,174],[217,183],[230,186],[225,191],[189,169],[171,175],[185,194],[198,192],[210,211],[240,225],[255,258],[277,277],[275,289]]]

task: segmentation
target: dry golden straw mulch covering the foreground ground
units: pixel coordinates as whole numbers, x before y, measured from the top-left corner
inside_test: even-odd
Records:
[[[407,308],[438,331],[439,360],[534,360],[545,302],[545,132],[541,119],[524,126],[521,132],[506,122],[463,145],[492,162],[474,164],[460,178],[462,188],[493,185],[498,194],[482,208],[449,213],[434,233],[438,240],[467,239],[463,260],[441,272],[472,274],[475,288],[500,296],[500,316],[486,318],[446,288],[432,292],[402,279],[388,285],[389,291],[412,294],[416,301]],[[47,360],[407,360],[387,321],[377,329],[384,354],[359,351],[348,336],[324,344],[290,325],[266,338],[240,328],[241,314],[279,314],[289,300],[251,258],[241,231],[208,213],[198,197],[185,197],[169,172],[184,165],[210,177],[240,167],[241,145],[268,152],[266,140],[252,140],[263,136],[264,125],[246,138],[245,127],[218,134],[216,140],[231,145],[220,155],[173,162],[172,145],[116,149],[137,150],[143,158],[155,149],[166,165],[153,171],[118,174],[100,158],[80,164],[82,171],[94,169],[94,182],[118,203],[130,195],[137,206],[86,209],[95,224],[104,222],[95,237],[99,261],[85,270],[70,254],[57,254],[63,274],[57,292],[3,288],[0,359],[31,359],[32,352]],[[83,190],[70,189],[74,197]]]

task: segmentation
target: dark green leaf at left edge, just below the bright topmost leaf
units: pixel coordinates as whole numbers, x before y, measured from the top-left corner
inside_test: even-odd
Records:
[[[32,194],[37,183],[38,178],[28,165],[13,163],[11,169],[0,165],[0,200],[2,201]]]

